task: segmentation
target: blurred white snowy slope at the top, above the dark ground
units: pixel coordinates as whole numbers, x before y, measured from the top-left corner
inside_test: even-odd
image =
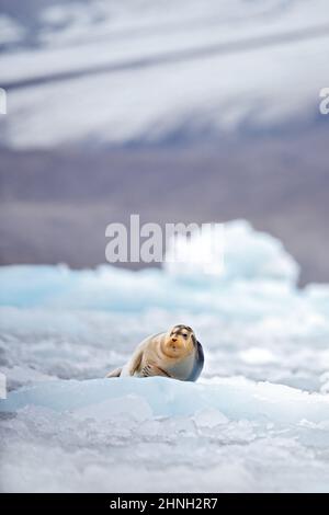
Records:
[[[15,5],[0,16],[2,145],[202,140],[319,116],[327,0]]]

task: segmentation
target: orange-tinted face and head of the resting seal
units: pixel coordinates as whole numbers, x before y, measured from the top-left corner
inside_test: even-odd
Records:
[[[196,344],[193,329],[189,325],[174,325],[164,337],[162,352],[169,357],[185,357]]]

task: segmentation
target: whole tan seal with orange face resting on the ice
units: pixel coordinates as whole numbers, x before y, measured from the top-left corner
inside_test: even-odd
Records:
[[[201,343],[189,325],[174,325],[167,333],[145,339],[122,368],[106,377],[163,376],[181,381],[196,381],[204,364]]]

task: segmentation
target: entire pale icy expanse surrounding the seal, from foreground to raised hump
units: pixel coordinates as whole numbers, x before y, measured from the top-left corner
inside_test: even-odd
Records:
[[[0,268],[2,491],[329,490],[329,286],[246,222],[225,241],[222,275]],[[103,378],[181,322],[196,384]]]

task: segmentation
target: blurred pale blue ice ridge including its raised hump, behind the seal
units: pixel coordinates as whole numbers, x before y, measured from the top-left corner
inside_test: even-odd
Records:
[[[192,237],[192,244],[197,240]],[[204,243],[204,240],[203,240]],[[218,245],[219,249],[219,245]],[[145,270],[133,273],[102,265],[97,271],[70,271],[59,266],[9,266],[0,270],[0,305],[15,307],[56,307],[79,309],[110,309],[118,311],[145,310],[160,307],[177,310],[230,310],[235,316],[246,308],[259,313],[260,304],[271,302],[273,313],[285,305],[299,304],[293,289],[298,277],[298,265],[276,239],[257,233],[243,220],[225,226],[224,270],[207,274],[203,263],[164,263],[164,273]],[[169,256],[171,250],[168,250]],[[220,262],[222,255],[218,255]],[[202,273],[200,271],[202,267]],[[185,271],[189,271],[186,274]],[[166,295],[171,288],[173,295]],[[314,294],[313,294],[314,295]],[[328,295],[328,291],[327,291]],[[227,304],[235,297],[235,305]],[[246,297],[249,298],[247,307]]]

